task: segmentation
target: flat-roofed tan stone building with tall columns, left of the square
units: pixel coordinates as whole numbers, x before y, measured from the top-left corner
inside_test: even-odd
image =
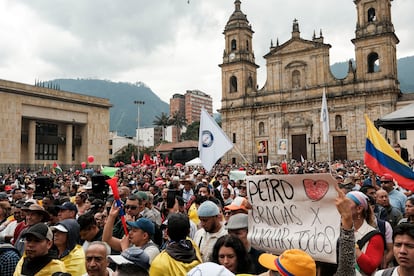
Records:
[[[108,99],[0,80],[0,171],[109,162]]]

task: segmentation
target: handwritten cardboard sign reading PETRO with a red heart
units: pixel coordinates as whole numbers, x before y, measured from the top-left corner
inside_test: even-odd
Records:
[[[247,176],[246,182],[254,248],[276,255],[299,248],[317,261],[336,263],[340,216],[330,174]]]

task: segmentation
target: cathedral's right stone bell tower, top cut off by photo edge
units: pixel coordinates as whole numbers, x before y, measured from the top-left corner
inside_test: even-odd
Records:
[[[354,0],[357,9],[355,38],[358,81],[397,81],[396,45],[391,21],[392,0]]]

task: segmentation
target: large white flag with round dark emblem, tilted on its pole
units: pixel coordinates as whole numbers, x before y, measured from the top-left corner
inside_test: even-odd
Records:
[[[210,171],[217,160],[223,157],[231,148],[233,148],[233,143],[210,114],[202,108],[198,151],[203,167]]]

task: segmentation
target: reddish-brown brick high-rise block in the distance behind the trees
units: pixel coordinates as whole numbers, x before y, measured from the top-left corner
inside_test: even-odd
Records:
[[[187,90],[184,95],[174,94],[170,99],[170,115],[176,112],[183,114],[187,125],[200,121],[201,108],[204,107],[208,113],[213,113],[213,99],[210,95],[200,90]],[[172,141],[178,142],[175,127],[172,130]]]

